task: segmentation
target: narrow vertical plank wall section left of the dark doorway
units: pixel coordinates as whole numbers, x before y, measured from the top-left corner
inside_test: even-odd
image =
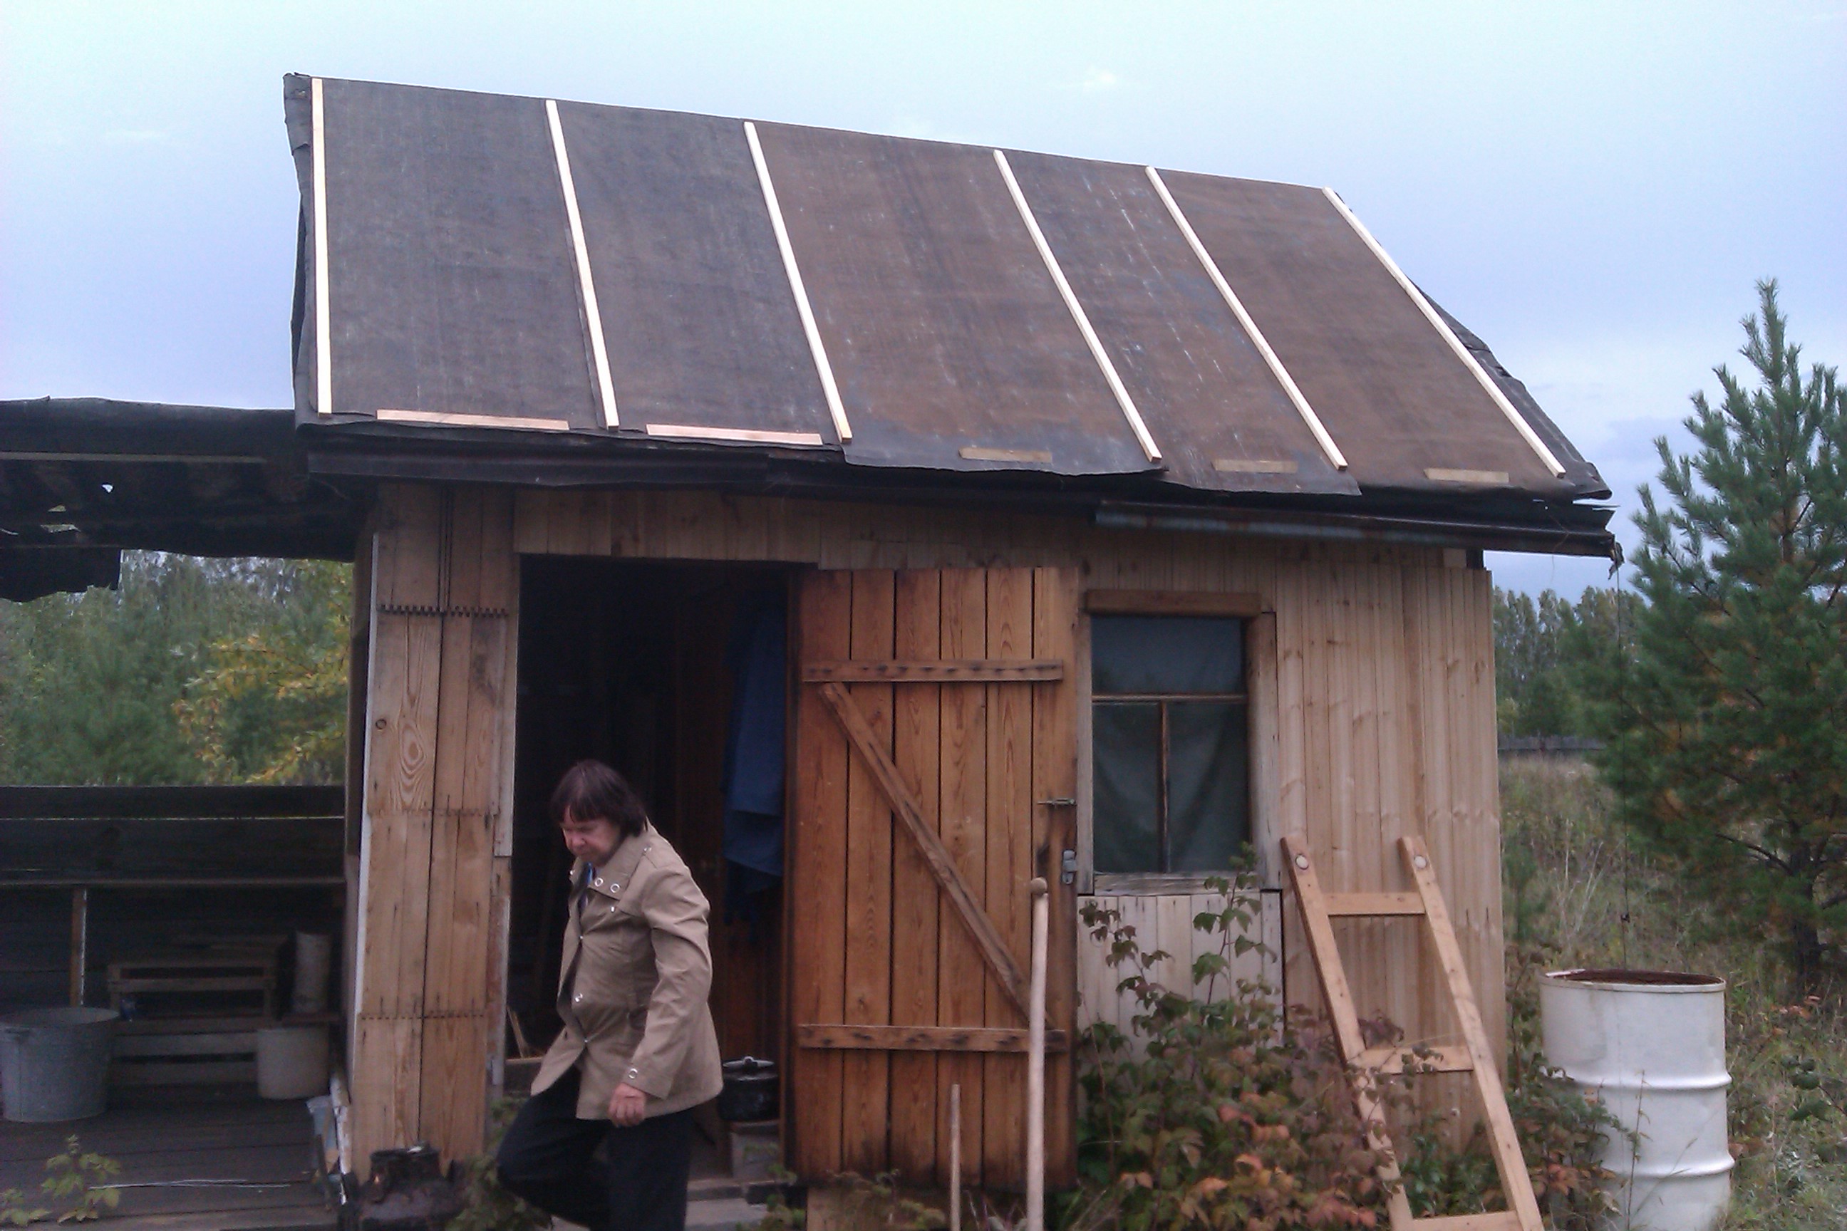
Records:
[[[373,537],[353,1155],[480,1150],[499,1061],[517,574],[512,500],[392,487]]]

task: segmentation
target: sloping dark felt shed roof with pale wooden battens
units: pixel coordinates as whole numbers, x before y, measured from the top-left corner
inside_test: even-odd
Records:
[[[1609,495],[1596,469],[1332,190],[368,81],[284,98],[297,421],[368,472],[473,447],[1607,520],[1575,506]]]

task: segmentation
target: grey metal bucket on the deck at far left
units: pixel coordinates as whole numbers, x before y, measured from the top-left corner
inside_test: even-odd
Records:
[[[42,1124],[103,1113],[115,1010],[24,1010],[0,1017],[6,1118]]]

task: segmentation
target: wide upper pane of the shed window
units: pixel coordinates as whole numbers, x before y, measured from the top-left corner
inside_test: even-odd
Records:
[[[1221,616],[1093,616],[1092,692],[1243,692],[1245,622]]]

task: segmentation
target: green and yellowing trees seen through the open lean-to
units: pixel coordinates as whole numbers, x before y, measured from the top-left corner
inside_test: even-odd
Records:
[[[332,783],[351,568],[126,552],[116,591],[0,602],[0,783]]]

